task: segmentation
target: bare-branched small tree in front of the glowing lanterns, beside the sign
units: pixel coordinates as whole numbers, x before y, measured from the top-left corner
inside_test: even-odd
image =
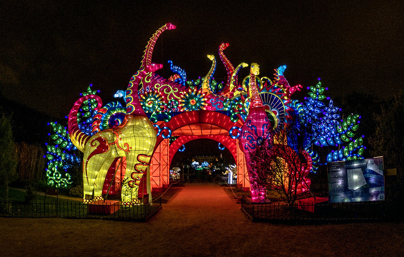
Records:
[[[310,134],[286,125],[252,151],[252,174],[259,185],[272,190],[292,207],[297,195],[310,190],[307,175],[312,159],[305,150]]]

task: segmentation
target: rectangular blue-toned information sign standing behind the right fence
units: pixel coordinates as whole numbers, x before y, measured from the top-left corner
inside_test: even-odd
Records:
[[[384,200],[383,157],[333,162],[327,168],[329,202]]]

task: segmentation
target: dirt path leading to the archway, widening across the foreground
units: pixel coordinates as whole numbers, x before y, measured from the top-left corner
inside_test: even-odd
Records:
[[[2,256],[403,255],[404,224],[252,223],[215,184],[186,184],[147,223],[0,218]]]

